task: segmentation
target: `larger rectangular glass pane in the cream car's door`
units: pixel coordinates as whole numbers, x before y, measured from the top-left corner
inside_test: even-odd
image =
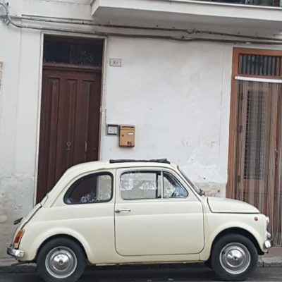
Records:
[[[121,175],[123,200],[156,199],[161,197],[161,172],[129,171]]]

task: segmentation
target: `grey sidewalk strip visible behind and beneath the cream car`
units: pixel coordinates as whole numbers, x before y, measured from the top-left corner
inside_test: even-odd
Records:
[[[0,273],[9,272],[9,273],[25,273],[25,272],[34,272],[36,270],[35,264],[21,264],[18,266],[11,266],[11,264],[16,263],[15,259],[6,258],[0,259]],[[179,264],[181,266],[183,264]],[[203,263],[192,263],[188,264],[190,267],[202,267]],[[166,267],[177,267],[177,264],[159,264],[160,268]],[[268,254],[259,256],[258,267],[282,267],[282,247],[272,247]],[[91,270],[95,266],[88,266],[87,269]],[[115,268],[118,266],[101,266],[103,268]],[[124,266],[123,266],[124,267]],[[146,268],[145,265],[133,265],[125,266],[126,268]]]

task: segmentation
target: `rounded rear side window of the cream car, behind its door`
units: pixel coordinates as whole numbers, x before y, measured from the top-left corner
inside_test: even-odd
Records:
[[[66,204],[89,204],[109,202],[113,195],[111,173],[92,173],[83,176],[71,185],[63,197]]]

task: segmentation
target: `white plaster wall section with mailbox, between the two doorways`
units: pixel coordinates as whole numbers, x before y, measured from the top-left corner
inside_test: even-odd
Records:
[[[109,38],[104,121],[136,125],[134,148],[102,133],[102,159],[167,157],[225,195],[232,47]],[[122,60],[121,68],[109,66]]]

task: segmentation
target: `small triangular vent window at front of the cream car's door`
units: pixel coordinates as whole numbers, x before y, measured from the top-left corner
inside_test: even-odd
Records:
[[[188,196],[188,191],[171,174],[164,172],[164,198],[183,198]]]

